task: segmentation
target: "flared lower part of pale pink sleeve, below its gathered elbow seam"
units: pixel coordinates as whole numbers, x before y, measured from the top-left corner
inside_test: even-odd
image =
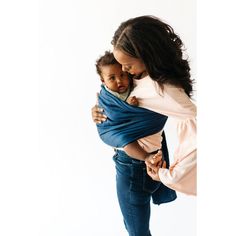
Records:
[[[169,169],[160,168],[159,177],[163,184],[172,189],[196,195],[196,120],[180,120],[177,123],[177,133],[179,143],[174,153],[175,161]]]

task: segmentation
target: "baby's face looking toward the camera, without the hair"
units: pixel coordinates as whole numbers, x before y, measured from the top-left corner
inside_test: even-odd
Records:
[[[101,67],[102,82],[112,91],[124,93],[129,87],[128,73],[122,71],[120,64]]]

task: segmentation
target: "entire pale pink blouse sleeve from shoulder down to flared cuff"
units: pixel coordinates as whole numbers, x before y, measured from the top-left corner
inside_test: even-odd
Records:
[[[183,89],[165,87],[162,113],[176,121],[178,145],[174,163],[169,169],[160,168],[163,184],[185,194],[196,195],[196,106]]]

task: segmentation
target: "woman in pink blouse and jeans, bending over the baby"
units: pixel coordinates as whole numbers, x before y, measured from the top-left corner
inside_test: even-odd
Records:
[[[150,160],[146,160],[149,167],[148,174],[158,180],[158,183],[161,181],[171,189],[196,195],[196,107],[190,99],[192,80],[188,61],[182,55],[181,39],[171,26],[160,19],[141,16],[123,22],[115,32],[112,44],[114,56],[122,65],[123,71],[133,75],[134,90],[130,96],[138,98],[140,107],[173,118],[177,122],[179,145],[175,150],[174,163],[167,169],[164,166],[156,166],[155,161],[152,165]],[[106,116],[100,111],[97,106],[92,109],[92,116],[96,123],[106,120]],[[153,142],[157,147],[162,146],[165,156],[167,154],[163,151],[161,134],[162,131],[160,131],[160,138]],[[137,207],[143,204],[145,209],[148,209],[150,196],[140,198],[138,202],[127,197],[134,180],[137,179],[129,174],[125,178],[126,173],[121,172],[120,169],[130,164],[130,158],[118,150],[114,160],[117,182],[122,182],[119,183],[117,192],[126,228],[130,235],[151,235],[148,226],[150,211],[143,209],[139,211]],[[123,185],[125,187],[121,189],[120,186]],[[140,189],[139,193],[143,194]],[[127,209],[130,212],[127,212]],[[142,217],[136,216],[140,213]],[[130,219],[130,215],[133,218]],[[139,231],[139,224],[145,226],[145,231]]]

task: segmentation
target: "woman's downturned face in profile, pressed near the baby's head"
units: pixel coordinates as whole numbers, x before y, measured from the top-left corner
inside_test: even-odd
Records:
[[[119,49],[114,49],[113,54],[122,65],[122,70],[134,75],[134,78],[146,74],[146,67],[140,59],[131,57]]]

